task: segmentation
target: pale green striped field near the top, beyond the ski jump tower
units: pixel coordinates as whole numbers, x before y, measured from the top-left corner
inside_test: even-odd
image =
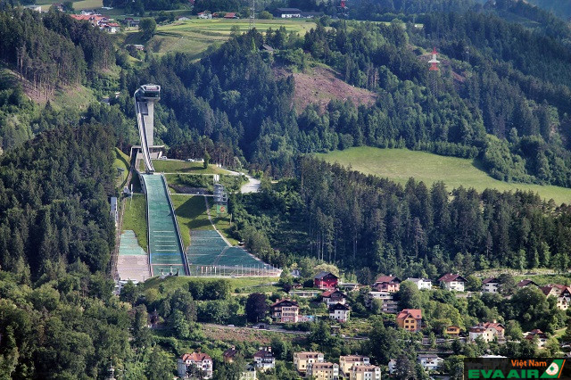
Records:
[[[147,49],[155,54],[189,53],[195,58],[211,45],[224,43],[230,37],[233,27],[240,28],[240,32],[248,30],[248,20],[192,19],[190,21],[175,21],[167,25],[160,25],[156,35],[147,43]],[[256,28],[266,31],[284,27],[287,31],[294,31],[304,35],[316,27],[315,22],[306,20],[258,20]],[[126,42],[135,44],[139,33],[137,29],[129,30]]]

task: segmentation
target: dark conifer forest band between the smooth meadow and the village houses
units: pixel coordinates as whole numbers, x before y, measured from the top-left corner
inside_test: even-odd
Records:
[[[262,188],[231,199],[236,235],[280,266],[309,256],[361,275],[434,278],[569,265],[571,208],[536,194],[401,186],[311,158]]]

